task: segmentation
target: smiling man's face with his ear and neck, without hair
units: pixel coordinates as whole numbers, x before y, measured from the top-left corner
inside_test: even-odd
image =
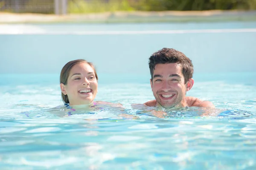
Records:
[[[179,64],[157,64],[153,79],[150,79],[151,89],[157,100],[157,105],[163,108],[185,107],[186,91],[192,88],[193,79],[185,84],[182,68]]]

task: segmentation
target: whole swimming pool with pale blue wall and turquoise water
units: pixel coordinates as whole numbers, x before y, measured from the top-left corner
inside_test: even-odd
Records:
[[[1,169],[256,168],[256,23],[1,28],[30,28],[32,33],[0,35]],[[191,31],[200,29],[204,31]],[[163,47],[177,48],[192,59],[195,84],[188,96],[213,102],[212,112],[229,112],[204,117],[198,108],[189,108],[164,118],[136,114],[131,104],[154,98],[147,59]],[[52,108],[62,105],[61,67],[77,58],[96,65],[96,100],[121,103],[125,110],[54,114]]]

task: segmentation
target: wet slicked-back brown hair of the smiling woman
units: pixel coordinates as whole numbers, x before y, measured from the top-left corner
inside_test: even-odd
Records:
[[[87,63],[93,68],[95,77],[98,81],[98,75],[97,75],[97,72],[96,72],[96,69],[95,69],[93,63],[87,62],[85,59],[76,59],[76,60],[70,61],[66,65],[64,65],[64,67],[61,70],[60,83],[67,85],[67,79],[69,77],[70,70],[73,68],[74,65],[81,64],[81,63]],[[65,94],[61,93],[61,98],[64,103],[69,103],[67,94],[65,95]]]

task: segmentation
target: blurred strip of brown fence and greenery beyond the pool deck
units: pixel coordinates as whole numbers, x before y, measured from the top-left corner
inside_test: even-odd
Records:
[[[0,0],[0,11],[42,14],[216,9],[253,10],[256,0]]]

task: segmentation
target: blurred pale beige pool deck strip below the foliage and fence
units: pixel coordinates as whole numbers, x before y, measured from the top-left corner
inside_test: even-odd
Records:
[[[98,14],[15,14],[0,12],[0,23],[154,23],[256,21],[256,11],[132,11]]]

